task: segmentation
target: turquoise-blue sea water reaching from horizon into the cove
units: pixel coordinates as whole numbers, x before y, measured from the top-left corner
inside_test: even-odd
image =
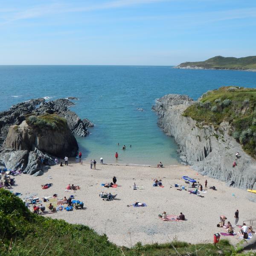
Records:
[[[106,163],[115,163],[118,151],[119,163],[169,165],[178,162],[177,145],[157,127],[151,111],[155,100],[168,93],[197,99],[226,85],[256,87],[256,73],[143,66],[0,66],[0,111],[32,98],[76,96],[79,100],[72,110],[95,124],[90,136],[77,138],[84,161],[99,162],[103,157]]]

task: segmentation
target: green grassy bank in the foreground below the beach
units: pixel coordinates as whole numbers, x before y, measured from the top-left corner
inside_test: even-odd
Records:
[[[172,239],[168,244],[143,246],[138,243],[133,248],[121,248],[109,242],[106,235],[99,236],[87,226],[35,215],[24,206],[20,198],[0,189],[1,256],[215,256],[219,255],[219,251],[225,256],[241,255],[241,249],[232,247],[224,239],[221,239],[217,247],[213,244],[193,245]]]

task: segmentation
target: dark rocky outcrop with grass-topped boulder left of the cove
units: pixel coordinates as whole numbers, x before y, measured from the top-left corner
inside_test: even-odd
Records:
[[[75,157],[74,135],[87,136],[88,119],[69,110],[68,99],[32,99],[0,113],[0,165],[41,175],[55,157]]]

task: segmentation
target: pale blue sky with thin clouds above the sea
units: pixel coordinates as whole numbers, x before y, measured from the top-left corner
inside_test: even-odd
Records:
[[[256,0],[0,0],[0,65],[256,55]]]

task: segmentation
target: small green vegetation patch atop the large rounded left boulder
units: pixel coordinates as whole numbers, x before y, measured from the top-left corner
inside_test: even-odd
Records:
[[[34,128],[49,128],[51,130],[66,130],[67,120],[57,114],[44,113],[41,116],[28,115],[26,116],[28,125]]]

